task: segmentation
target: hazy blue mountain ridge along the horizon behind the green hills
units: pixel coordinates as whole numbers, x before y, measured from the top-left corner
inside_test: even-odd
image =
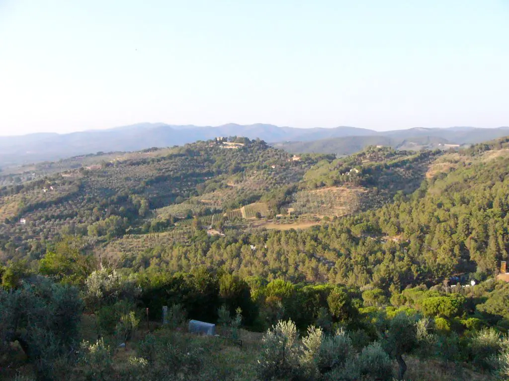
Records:
[[[335,139],[355,140],[359,147],[380,138],[394,142],[421,137],[445,139],[451,144],[470,144],[509,135],[509,127],[479,129],[453,127],[448,129],[408,129],[377,132],[351,126],[336,128],[298,129],[273,124],[241,125],[228,123],[219,126],[174,125],[165,123],[137,123],[107,130],[89,130],[70,134],[38,133],[24,136],[0,137],[0,166],[59,160],[74,155],[104,151],[134,151],[148,147],[166,147],[213,139],[217,136],[245,136],[260,138],[269,143],[299,142],[300,151],[309,151],[308,142]],[[362,139],[362,138],[365,139]],[[365,141],[363,143],[363,141]],[[387,144],[387,143],[385,143]],[[286,148],[285,144],[274,144]],[[315,143],[315,147],[316,147]],[[360,148],[362,149],[362,148]],[[329,150],[330,151],[330,150]],[[335,152],[334,152],[335,153]]]

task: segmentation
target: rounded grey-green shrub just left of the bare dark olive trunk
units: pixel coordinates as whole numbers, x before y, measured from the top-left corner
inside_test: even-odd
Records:
[[[379,342],[366,346],[359,355],[358,367],[367,380],[388,381],[392,379],[392,364],[389,355]]]

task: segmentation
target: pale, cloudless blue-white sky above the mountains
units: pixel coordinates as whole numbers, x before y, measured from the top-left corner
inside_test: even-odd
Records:
[[[509,125],[509,0],[0,0],[0,135]]]

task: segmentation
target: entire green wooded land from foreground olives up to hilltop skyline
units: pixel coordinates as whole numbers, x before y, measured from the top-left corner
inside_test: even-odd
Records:
[[[341,158],[232,140],[4,186],[0,366],[507,380],[509,138]],[[187,336],[186,319],[220,337]]]

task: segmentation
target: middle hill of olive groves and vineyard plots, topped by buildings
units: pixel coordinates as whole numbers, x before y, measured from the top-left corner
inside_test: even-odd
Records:
[[[199,226],[218,234],[310,226],[413,192],[441,154],[371,147],[340,159],[295,157],[263,141],[232,140],[73,157],[23,172],[24,182],[4,176],[4,259],[37,259],[46,241],[66,234],[104,246],[125,234],[185,241]]]

